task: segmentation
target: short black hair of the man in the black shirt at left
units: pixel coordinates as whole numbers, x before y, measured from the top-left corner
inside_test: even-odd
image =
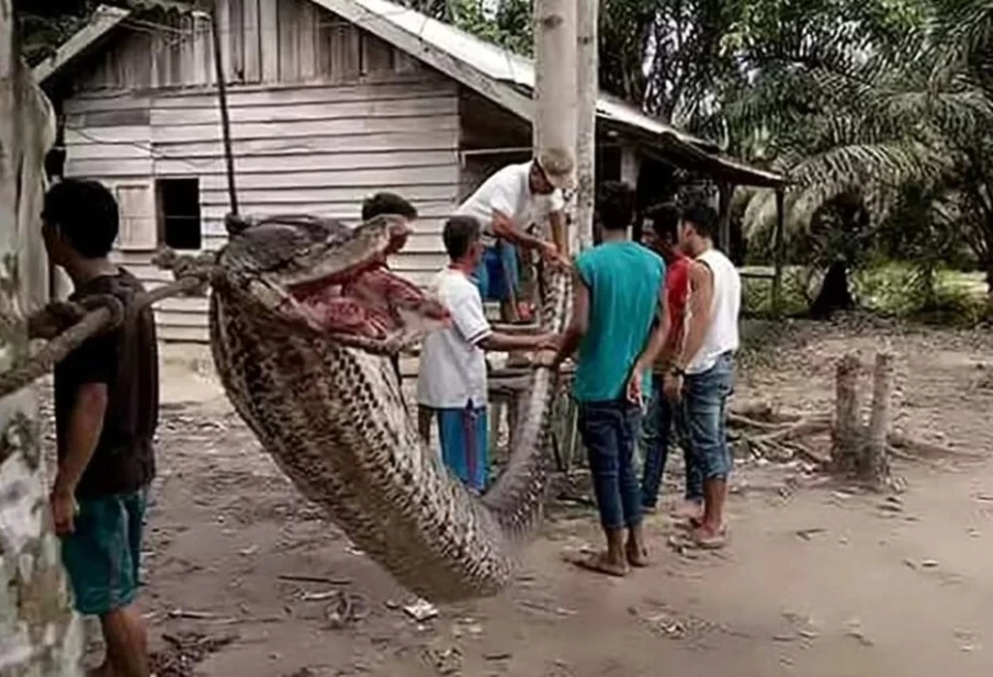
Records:
[[[99,181],[64,179],[45,193],[42,218],[81,257],[105,257],[117,239],[121,214],[114,195]]]

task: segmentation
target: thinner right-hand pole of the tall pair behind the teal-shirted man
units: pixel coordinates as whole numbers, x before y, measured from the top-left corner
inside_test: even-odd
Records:
[[[576,138],[576,238],[578,249],[593,246],[594,204],[596,201],[597,97],[599,95],[599,50],[597,21],[599,0],[578,0],[577,105]],[[636,187],[632,187],[636,188]],[[573,241],[569,250],[576,251]]]

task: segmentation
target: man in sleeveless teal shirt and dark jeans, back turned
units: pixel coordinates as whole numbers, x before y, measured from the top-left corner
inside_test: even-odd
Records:
[[[627,184],[605,183],[597,214],[603,241],[576,259],[572,323],[554,364],[578,348],[573,396],[607,535],[606,552],[577,564],[623,576],[629,564],[647,564],[633,456],[642,393],[668,331],[665,263],[628,235],[634,195]]]

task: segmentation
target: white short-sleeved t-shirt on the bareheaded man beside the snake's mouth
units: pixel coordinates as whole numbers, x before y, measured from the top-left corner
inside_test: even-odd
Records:
[[[478,343],[493,329],[479,290],[465,273],[439,272],[431,290],[452,316],[452,326],[425,337],[417,374],[417,403],[436,409],[486,404],[486,357]]]

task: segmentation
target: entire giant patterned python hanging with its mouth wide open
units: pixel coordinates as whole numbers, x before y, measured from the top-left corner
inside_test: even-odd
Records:
[[[228,229],[211,281],[211,346],[266,451],[414,593],[448,602],[504,588],[541,517],[555,374],[534,370],[510,461],[476,495],[421,443],[387,359],[445,320],[384,264],[406,242],[405,223],[229,217]],[[568,275],[542,282],[543,328],[561,331]]]

